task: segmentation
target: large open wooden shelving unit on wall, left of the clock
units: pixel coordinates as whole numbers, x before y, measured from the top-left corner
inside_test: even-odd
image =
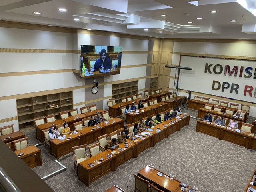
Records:
[[[73,109],[73,92],[17,99],[16,103],[19,129],[22,129],[34,126],[34,118],[55,114],[56,119],[60,119],[59,112]],[[54,104],[56,104],[55,107],[50,107]]]

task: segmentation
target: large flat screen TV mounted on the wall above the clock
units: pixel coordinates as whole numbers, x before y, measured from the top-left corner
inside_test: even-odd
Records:
[[[81,45],[81,78],[120,74],[122,47]]]

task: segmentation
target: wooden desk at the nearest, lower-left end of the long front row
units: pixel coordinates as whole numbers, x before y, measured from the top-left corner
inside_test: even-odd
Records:
[[[116,155],[106,160],[106,155],[108,154],[110,152],[106,150],[78,164],[78,179],[86,184],[87,187],[98,178],[106,175],[110,171],[116,170]],[[100,164],[89,167],[89,163],[93,164],[96,160],[100,162],[100,158],[104,158]]]

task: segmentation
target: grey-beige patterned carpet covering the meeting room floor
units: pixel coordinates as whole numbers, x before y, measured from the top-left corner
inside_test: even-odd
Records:
[[[197,117],[197,111],[184,110],[192,117]],[[251,123],[255,118],[249,117]],[[170,135],[168,139],[158,142],[154,148],[148,148],[122,164],[115,172],[110,172],[102,178],[90,184],[87,188],[76,176],[73,154],[62,156],[59,162],[66,166],[67,170],[45,180],[45,182],[58,192],[104,192],[114,184],[119,185],[128,192],[134,191],[134,176],[147,164],[153,164],[156,168],[167,174],[173,174],[182,182],[196,186],[201,192],[242,192],[256,167],[256,153],[236,144],[218,140],[217,138],[195,132],[197,120],[190,118],[190,124]],[[35,133],[29,131],[29,144],[38,144]],[[42,178],[60,168],[50,148],[38,146],[42,151],[41,167],[33,170]]]

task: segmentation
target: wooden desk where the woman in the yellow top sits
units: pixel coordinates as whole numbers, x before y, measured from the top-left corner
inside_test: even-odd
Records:
[[[71,137],[71,139],[67,140],[66,138],[65,140],[62,141],[59,139],[50,140],[50,153],[57,159],[68,153],[71,153],[73,151],[72,147],[84,144],[83,134],[67,134],[66,136],[67,138]]]

